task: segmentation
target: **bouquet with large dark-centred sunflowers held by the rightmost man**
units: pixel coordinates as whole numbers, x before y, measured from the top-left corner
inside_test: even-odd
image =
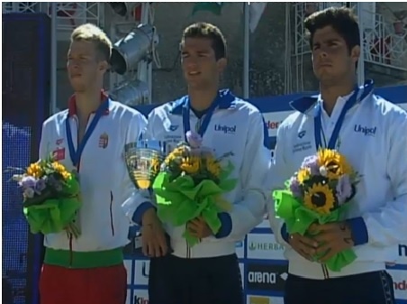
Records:
[[[359,175],[346,158],[335,150],[321,149],[306,157],[300,170],[276,190],[276,216],[285,220],[290,234],[309,234],[312,223],[326,224],[343,220],[348,203],[355,196]],[[318,257],[314,257],[318,258]],[[342,251],[327,261],[327,267],[339,272],[352,263],[352,249]]]

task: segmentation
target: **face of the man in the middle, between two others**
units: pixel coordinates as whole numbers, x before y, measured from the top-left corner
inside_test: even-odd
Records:
[[[226,59],[216,60],[212,41],[207,38],[186,38],[181,47],[182,69],[189,88],[217,86],[226,67]]]

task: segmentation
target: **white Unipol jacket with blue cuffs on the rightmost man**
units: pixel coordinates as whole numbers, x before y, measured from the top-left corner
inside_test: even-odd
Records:
[[[339,97],[330,116],[322,111],[321,126],[327,141],[348,97]],[[304,157],[316,152],[313,118],[315,102],[321,99],[308,105],[302,102],[292,103],[297,112],[278,129],[274,170],[268,177],[272,189],[284,188],[284,181],[300,168]],[[286,246],[289,272],[305,278],[327,279],[384,270],[386,262],[396,260],[394,246],[407,241],[407,113],[369,94],[348,111],[339,140],[339,152],[363,175],[347,216],[354,219],[350,222],[354,237],[362,243],[353,248],[357,254],[354,263],[341,272],[326,272],[320,263],[303,259],[285,243],[274,203],[270,199],[268,204],[276,240]],[[367,240],[363,240],[366,233]]]

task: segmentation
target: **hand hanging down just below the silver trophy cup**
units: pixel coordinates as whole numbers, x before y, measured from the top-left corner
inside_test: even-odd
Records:
[[[158,219],[156,210],[147,210],[141,221],[142,252],[149,257],[160,257],[167,254],[165,231]]]

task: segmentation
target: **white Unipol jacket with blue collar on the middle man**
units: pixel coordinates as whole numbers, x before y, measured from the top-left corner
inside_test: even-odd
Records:
[[[262,186],[267,175],[270,152],[265,147],[265,124],[255,106],[221,91],[222,102],[213,113],[203,146],[215,149],[218,156],[233,152],[235,170],[231,178],[238,179],[234,190],[224,198],[233,204],[228,218],[222,218],[224,237],[210,236],[193,248],[186,245],[185,226],[165,225],[176,256],[184,258],[214,257],[235,253],[235,244],[263,219],[266,211],[266,189]],[[186,97],[158,106],[149,115],[146,136],[166,141],[173,148],[185,140],[182,107]],[[199,119],[190,111],[190,125],[194,130]],[[225,236],[227,235],[227,236]]]

